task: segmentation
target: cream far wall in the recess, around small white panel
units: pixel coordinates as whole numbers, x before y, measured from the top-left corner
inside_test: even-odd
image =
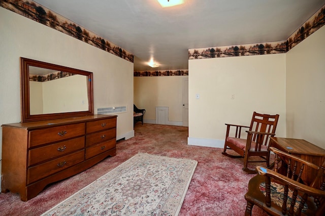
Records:
[[[156,107],[169,107],[169,123],[182,125],[183,80],[188,76],[134,77],[134,103],[146,109],[144,122],[155,123]]]

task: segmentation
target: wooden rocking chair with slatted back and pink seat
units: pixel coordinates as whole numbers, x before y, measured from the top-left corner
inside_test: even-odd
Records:
[[[255,170],[247,168],[249,162],[266,162],[269,167],[268,145],[269,137],[275,136],[275,130],[279,115],[259,114],[254,112],[250,126],[225,124],[227,125],[223,155],[237,158],[244,158],[243,170],[248,173],[256,173]],[[242,128],[247,128],[247,138],[242,139]],[[230,134],[234,133],[233,136]],[[239,155],[226,153],[227,149],[232,149]],[[252,156],[259,156],[259,160],[251,159]]]

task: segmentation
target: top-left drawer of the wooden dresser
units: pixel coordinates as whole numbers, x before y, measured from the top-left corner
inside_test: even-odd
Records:
[[[52,143],[85,134],[85,123],[67,124],[62,126],[38,129],[29,132],[29,148]]]

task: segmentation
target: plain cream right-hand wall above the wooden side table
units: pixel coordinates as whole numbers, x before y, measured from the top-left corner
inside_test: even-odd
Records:
[[[286,134],[325,149],[325,26],[286,53]]]

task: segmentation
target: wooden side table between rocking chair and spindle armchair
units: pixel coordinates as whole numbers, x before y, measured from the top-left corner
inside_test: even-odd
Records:
[[[293,154],[318,166],[322,165],[325,158],[325,149],[306,140],[271,137],[269,146]],[[302,180],[307,185],[310,185],[316,174],[315,170],[306,169],[302,174]]]

